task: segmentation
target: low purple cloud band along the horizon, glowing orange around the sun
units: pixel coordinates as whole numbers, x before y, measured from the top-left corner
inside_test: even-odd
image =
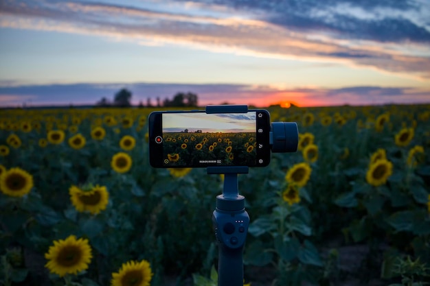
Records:
[[[269,106],[293,102],[299,106],[422,104],[430,103],[430,88],[346,86],[343,88],[288,88],[251,86],[245,84],[52,84],[0,86],[0,106],[93,105],[106,97],[113,101],[115,93],[127,88],[133,93],[134,105],[157,97],[172,99],[178,92],[192,92],[199,97],[199,106],[210,104],[246,104]]]

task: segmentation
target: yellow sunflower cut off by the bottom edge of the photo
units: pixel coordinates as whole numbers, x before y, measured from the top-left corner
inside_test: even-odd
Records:
[[[111,286],[149,286],[152,275],[148,261],[128,261],[112,274]]]

